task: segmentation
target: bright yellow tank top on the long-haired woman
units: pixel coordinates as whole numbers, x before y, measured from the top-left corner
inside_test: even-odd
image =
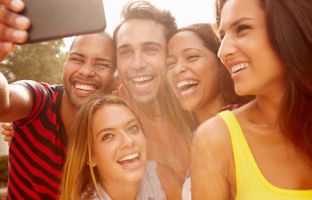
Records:
[[[226,122],[231,135],[235,173],[236,200],[311,200],[312,189],[277,188],[262,175],[253,158],[242,128],[231,111],[218,114]]]

